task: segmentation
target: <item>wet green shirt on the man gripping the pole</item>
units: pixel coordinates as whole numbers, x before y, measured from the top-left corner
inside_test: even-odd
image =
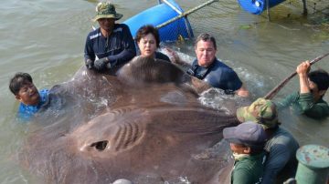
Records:
[[[285,97],[283,100],[274,103],[279,110],[292,105],[293,110],[298,114],[304,114],[310,118],[321,119],[329,116],[328,104],[323,98],[317,102],[314,102],[312,93],[300,94],[299,92],[295,92],[290,96]]]

